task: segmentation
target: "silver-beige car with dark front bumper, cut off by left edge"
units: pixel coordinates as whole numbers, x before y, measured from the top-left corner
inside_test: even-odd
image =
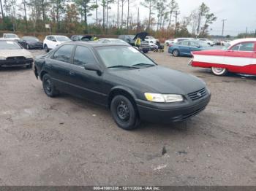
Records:
[[[23,49],[18,42],[0,41],[0,67],[26,66],[31,69],[33,62],[31,53]]]

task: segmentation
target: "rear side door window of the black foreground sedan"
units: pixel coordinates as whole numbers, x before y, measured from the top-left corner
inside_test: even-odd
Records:
[[[53,55],[53,59],[65,63],[70,63],[74,45],[63,45]]]

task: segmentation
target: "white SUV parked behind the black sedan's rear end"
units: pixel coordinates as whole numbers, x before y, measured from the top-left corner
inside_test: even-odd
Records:
[[[45,40],[43,42],[45,52],[49,52],[49,50],[53,50],[54,48],[58,47],[60,44],[64,42],[70,42],[71,39],[67,36],[60,36],[60,35],[50,35],[45,36]]]

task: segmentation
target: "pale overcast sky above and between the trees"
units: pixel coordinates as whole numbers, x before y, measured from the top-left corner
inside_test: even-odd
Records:
[[[18,0],[20,2],[21,0]],[[93,1],[93,0],[92,0]],[[99,0],[98,0],[99,1]],[[137,18],[138,4],[143,0],[130,0],[132,15]],[[225,35],[237,35],[238,33],[245,32],[246,27],[248,31],[255,31],[256,29],[256,0],[176,0],[180,7],[180,17],[188,16],[193,9],[200,6],[202,2],[205,2],[210,7],[211,12],[217,16],[215,21],[209,28],[212,28],[210,34],[221,35],[222,34],[222,19],[225,21]],[[99,16],[101,15],[101,9],[99,9]],[[113,7],[110,10],[110,15],[116,17],[117,7]],[[94,12],[92,12],[94,13]],[[127,6],[124,7],[124,14],[127,13]],[[143,20],[148,16],[148,9],[140,6],[140,20]],[[93,21],[94,15],[89,18],[89,21]]]

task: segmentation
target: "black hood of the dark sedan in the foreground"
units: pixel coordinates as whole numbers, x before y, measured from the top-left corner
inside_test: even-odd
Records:
[[[115,71],[110,72],[119,78],[132,82],[133,87],[143,87],[141,88],[142,90],[147,90],[151,93],[186,95],[206,87],[205,82],[197,77],[162,66],[148,67],[146,69],[115,69]]]

